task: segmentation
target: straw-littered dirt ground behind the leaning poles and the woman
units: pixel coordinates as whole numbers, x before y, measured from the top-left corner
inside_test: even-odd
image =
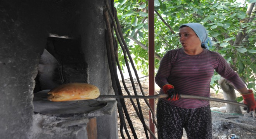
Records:
[[[136,83],[136,80],[135,80],[135,83]],[[144,94],[148,95],[147,77],[140,79],[140,83],[142,84]],[[126,86],[128,87],[128,90],[130,91],[131,95],[133,95],[133,88],[130,84],[130,80],[126,80]],[[140,95],[141,92],[139,91],[140,89],[138,88],[138,85],[136,85],[136,90],[138,95]],[[155,93],[156,95],[157,92],[159,91],[159,88],[157,88],[156,86],[155,90],[156,90],[156,93]],[[123,95],[127,95],[124,89],[123,89]],[[237,94],[237,96],[239,96],[239,94]],[[211,97],[223,99],[223,94],[221,92],[219,92],[218,94],[212,92]],[[133,99],[133,101],[136,103],[135,99]],[[158,100],[156,99],[155,104],[157,104],[157,101]],[[133,127],[135,128],[138,139],[146,139],[143,125],[138,119],[137,114],[133,106],[131,105],[130,99],[125,99],[125,103],[126,103],[128,113],[130,115],[130,119],[133,122]],[[256,118],[253,118],[251,114],[247,114],[246,111],[244,110],[242,110],[243,114],[239,114],[239,115],[228,114],[225,112],[225,103],[211,101],[210,105],[212,109],[213,139],[231,139],[231,138],[228,138],[228,136],[230,137],[237,136],[237,137],[240,137],[240,139],[256,139]],[[140,106],[142,108],[142,113],[144,116],[145,123],[147,124],[147,126],[149,126],[149,108],[147,107],[143,99],[140,99]],[[156,110],[156,105],[155,105],[155,110]],[[119,139],[122,139],[119,125],[120,125],[120,122],[118,117],[118,130],[119,130],[118,134],[119,134]],[[127,123],[126,125],[128,126]],[[131,138],[133,139],[134,137],[132,136],[130,128],[129,127],[127,128],[128,128],[128,131],[130,132]],[[155,136],[157,139],[157,129],[155,129],[155,131],[156,131]],[[125,130],[123,130],[123,134],[125,135],[125,138],[128,139],[128,137],[126,136]],[[187,139],[185,130],[183,132],[182,139]]]

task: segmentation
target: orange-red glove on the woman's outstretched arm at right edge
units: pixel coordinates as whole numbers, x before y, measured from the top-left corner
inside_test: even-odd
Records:
[[[254,111],[256,108],[256,101],[254,99],[253,90],[249,90],[250,93],[241,94],[244,99],[244,103],[248,105],[248,108],[244,108],[248,113]]]

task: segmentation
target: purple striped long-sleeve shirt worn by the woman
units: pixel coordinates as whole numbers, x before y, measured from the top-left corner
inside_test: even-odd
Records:
[[[184,95],[210,97],[210,82],[214,70],[236,89],[245,87],[237,73],[230,68],[227,61],[218,53],[203,49],[198,55],[188,55],[182,48],[168,51],[161,59],[155,80],[163,92],[163,86],[171,84],[175,90]],[[208,100],[180,98],[168,101],[182,108],[199,108],[209,105]]]

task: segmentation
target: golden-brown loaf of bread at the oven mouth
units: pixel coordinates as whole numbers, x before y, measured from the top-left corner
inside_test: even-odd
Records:
[[[90,100],[99,97],[97,86],[88,83],[67,83],[48,92],[47,99],[53,102]]]

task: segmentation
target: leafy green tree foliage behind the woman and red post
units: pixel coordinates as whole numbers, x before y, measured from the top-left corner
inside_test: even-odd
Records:
[[[137,69],[148,71],[148,1],[115,0],[118,19]],[[201,23],[209,31],[214,46],[245,81],[255,90],[256,81],[256,22],[255,2],[235,0],[154,0],[155,10],[155,67],[170,49],[181,47],[178,27],[189,22]],[[254,10],[253,10],[254,8]],[[119,50],[122,63],[122,52]],[[211,86],[218,86],[215,74]],[[217,91],[217,90],[216,90]]]

